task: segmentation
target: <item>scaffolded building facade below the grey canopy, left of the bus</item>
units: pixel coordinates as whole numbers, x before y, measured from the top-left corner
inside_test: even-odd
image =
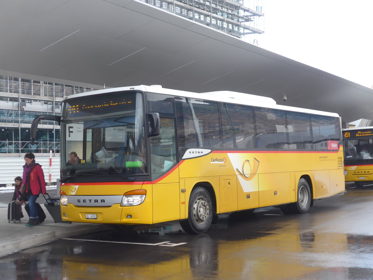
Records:
[[[60,115],[62,98],[94,88],[0,75],[0,156],[24,153],[59,153],[60,129],[53,121],[41,121],[35,144],[30,127],[40,114]]]

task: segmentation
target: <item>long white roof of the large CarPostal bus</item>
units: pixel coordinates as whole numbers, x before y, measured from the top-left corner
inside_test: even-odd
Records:
[[[293,112],[310,113],[310,114],[315,114],[315,115],[326,115],[326,116],[339,117],[337,113],[323,112],[323,111],[291,107],[291,106],[285,106],[285,105],[278,105],[276,101],[270,97],[258,96],[254,94],[239,93],[236,91],[211,91],[207,93],[195,93],[195,92],[190,92],[190,91],[163,88],[160,85],[135,85],[132,87],[105,88],[102,90],[87,91],[84,93],[73,94],[68,97],[65,97],[64,100],[73,99],[73,98],[82,97],[82,96],[91,96],[95,94],[104,94],[104,93],[110,93],[110,92],[115,92],[115,91],[126,91],[126,90],[139,90],[139,91],[146,91],[146,92],[152,92],[152,93],[189,97],[189,98],[195,98],[195,99],[206,99],[206,100],[211,100],[211,101],[220,101],[220,102],[233,103],[233,104],[242,104],[242,105],[249,105],[249,106],[258,106],[258,107],[265,107],[265,108],[272,108],[272,109],[287,110],[287,111],[293,111]]]

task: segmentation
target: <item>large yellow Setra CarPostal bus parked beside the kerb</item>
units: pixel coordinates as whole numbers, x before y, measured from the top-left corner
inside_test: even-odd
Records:
[[[223,213],[304,213],[344,191],[339,116],[268,97],[110,88],[66,97],[61,116],[34,119],[31,139],[41,120],[60,124],[63,221],[179,220],[198,234]]]

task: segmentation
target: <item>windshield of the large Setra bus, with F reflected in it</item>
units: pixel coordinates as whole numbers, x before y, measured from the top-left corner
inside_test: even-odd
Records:
[[[146,173],[143,116],[141,93],[94,95],[66,103],[62,175]]]

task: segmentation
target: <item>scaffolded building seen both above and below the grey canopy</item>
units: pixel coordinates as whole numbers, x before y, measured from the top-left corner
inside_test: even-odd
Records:
[[[264,13],[259,0],[141,1],[233,37],[248,38],[253,43],[264,32]],[[49,151],[52,151],[53,156],[59,156],[59,126],[53,121],[41,121],[35,144],[31,145],[32,120],[40,114],[59,115],[64,96],[101,88],[79,84],[79,81],[21,73],[14,73],[14,76],[0,75],[0,157],[22,157],[27,152]]]

